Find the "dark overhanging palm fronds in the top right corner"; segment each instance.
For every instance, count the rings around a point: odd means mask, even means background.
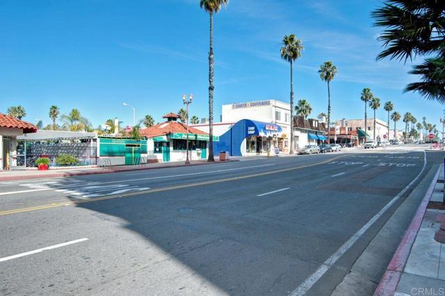
[[[420,75],[420,82],[410,83],[405,92],[417,91],[426,99],[445,103],[445,1],[387,0],[373,12],[375,26],[385,28],[380,34],[385,50],[378,59],[408,60],[427,56],[414,65],[410,74]]]

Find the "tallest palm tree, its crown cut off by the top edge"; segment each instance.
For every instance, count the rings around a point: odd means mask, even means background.
[[[227,6],[229,0],[200,0],[200,7],[209,13],[210,16],[210,49],[209,49],[209,158],[208,161],[215,161],[213,157],[213,15],[218,13],[223,6]]]

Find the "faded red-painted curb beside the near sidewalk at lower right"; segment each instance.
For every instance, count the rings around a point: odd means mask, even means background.
[[[437,179],[439,179],[441,170],[444,170],[444,165],[439,166],[435,177],[432,179],[430,187],[426,191],[426,194],[416,211],[416,215],[414,215],[412,219],[410,227],[408,227],[407,231],[405,232],[405,236],[403,236],[401,243],[398,245],[394,256],[389,262],[385,274],[383,274],[378,287],[374,291],[374,296],[394,296],[394,293],[396,293],[398,281],[401,279],[403,268],[405,268],[405,264],[410,256],[412,245],[414,244],[414,240],[416,240],[417,233],[419,232],[422,224],[423,216],[426,213],[426,207],[430,202],[432,192],[434,191]]]

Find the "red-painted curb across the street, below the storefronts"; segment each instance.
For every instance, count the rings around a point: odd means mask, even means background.
[[[89,174],[113,174],[117,172],[134,172],[134,171],[143,171],[143,170],[156,170],[156,169],[166,169],[170,167],[193,167],[195,165],[214,165],[219,163],[232,163],[238,160],[228,160],[228,161],[215,161],[214,163],[192,163],[190,165],[169,165],[165,167],[138,167],[134,169],[123,169],[123,170],[113,170],[104,169],[103,171],[94,171],[94,172],[63,172],[63,173],[54,173],[54,174],[45,174],[45,175],[34,175],[34,176],[4,176],[0,177],[0,181],[19,181],[19,180],[31,180],[31,179],[47,179],[47,178],[60,178],[67,176],[86,176]]]

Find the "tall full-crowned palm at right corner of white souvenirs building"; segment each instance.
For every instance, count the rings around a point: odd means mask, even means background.
[[[282,59],[287,60],[291,64],[291,147],[289,154],[293,154],[293,62],[300,58],[302,50],[302,42],[294,34],[284,36],[280,54]]]

